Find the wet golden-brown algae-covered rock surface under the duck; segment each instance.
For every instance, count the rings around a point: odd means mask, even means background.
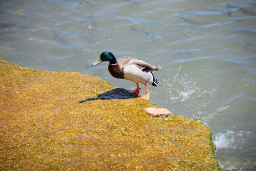
[[[219,170],[209,128],[98,77],[0,59],[0,170]]]

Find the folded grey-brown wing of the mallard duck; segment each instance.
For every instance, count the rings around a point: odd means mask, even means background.
[[[147,68],[149,70],[148,72],[159,71],[160,70],[159,68],[157,68],[155,66],[152,66],[151,64],[149,64],[147,62],[144,62],[141,59],[134,58],[134,57],[131,57],[131,56],[125,56],[125,57],[120,58],[118,60],[118,63],[120,63],[123,66],[125,66],[126,64],[136,65],[140,69]]]

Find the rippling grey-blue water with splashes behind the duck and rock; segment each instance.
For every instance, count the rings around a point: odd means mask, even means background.
[[[256,169],[256,2],[1,1],[1,58],[25,67],[79,71],[113,87],[101,52],[135,56],[162,71],[152,103],[204,120],[226,170]],[[244,9],[248,9],[247,11]],[[249,12],[248,12],[249,11]],[[141,85],[145,93],[145,86]]]

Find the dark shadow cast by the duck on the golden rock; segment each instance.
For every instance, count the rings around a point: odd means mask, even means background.
[[[116,88],[112,89],[111,91],[107,91],[104,93],[99,94],[97,97],[89,98],[85,100],[79,101],[79,103],[84,103],[86,101],[92,101],[92,100],[111,100],[111,99],[132,99],[139,97],[135,93],[131,93],[127,89],[124,88]]]

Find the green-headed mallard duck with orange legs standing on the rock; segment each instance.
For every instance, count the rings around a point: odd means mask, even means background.
[[[153,76],[152,71],[159,71],[160,69],[144,62],[143,60],[131,56],[124,56],[116,60],[115,56],[111,52],[106,51],[100,54],[100,57],[92,63],[92,66],[96,66],[104,61],[109,62],[108,71],[113,77],[131,80],[137,84],[137,88],[134,91],[130,91],[131,93],[139,95],[141,89],[139,87],[139,83],[147,86],[147,93],[142,95],[140,99],[148,100],[148,85],[157,86],[159,83]]]

